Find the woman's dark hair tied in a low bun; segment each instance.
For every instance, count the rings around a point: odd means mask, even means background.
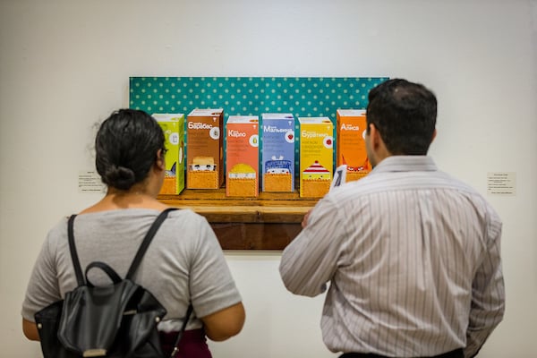
[[[129,190],[147,177],[157,160],[158,149],[165,150],[164,133],[157,121],[143,111],[119,109],[98,129],[98,174],[108,186]]]

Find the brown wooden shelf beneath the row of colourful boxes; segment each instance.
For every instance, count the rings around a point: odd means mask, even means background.
[[[300,198],[298,192],[229,198],[226,189],[196,189],[159,195],[158,200],[206,217],[224,250],[283,250],[300,233],[303,216],[319,199]]]

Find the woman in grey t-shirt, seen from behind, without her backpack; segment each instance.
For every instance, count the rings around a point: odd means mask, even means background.
[[[145,112],[120,109],[101,124],[95,147],[107,195],[76,217],[75,243],[82,269],[100,260],[124,277],[149,226],[167,208],[157,200],[166,171],[164,134]],[[166,308],[158,326],[165,351],[173,348],[174,332],[192,302],[177,357],[210,357],[206,336],[222,341],[243,328],[241,296],[217,238],[206,219],[191,210],[169,213],[134,279]],[[109,284],[104,276],[91,282]],[[64,217],[48,233],[31,274],[22,305],[24,335],[38,340],[34,314],[75,286]]]

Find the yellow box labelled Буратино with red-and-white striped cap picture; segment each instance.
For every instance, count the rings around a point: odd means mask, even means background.
[[[328,117],[299,117],[300,196],[320,198],[330,190],[334,170],[334,125]]]

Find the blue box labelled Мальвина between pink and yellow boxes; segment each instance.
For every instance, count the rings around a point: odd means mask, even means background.
[[[294,116],[261,115],[263,192],[294,192]]]

